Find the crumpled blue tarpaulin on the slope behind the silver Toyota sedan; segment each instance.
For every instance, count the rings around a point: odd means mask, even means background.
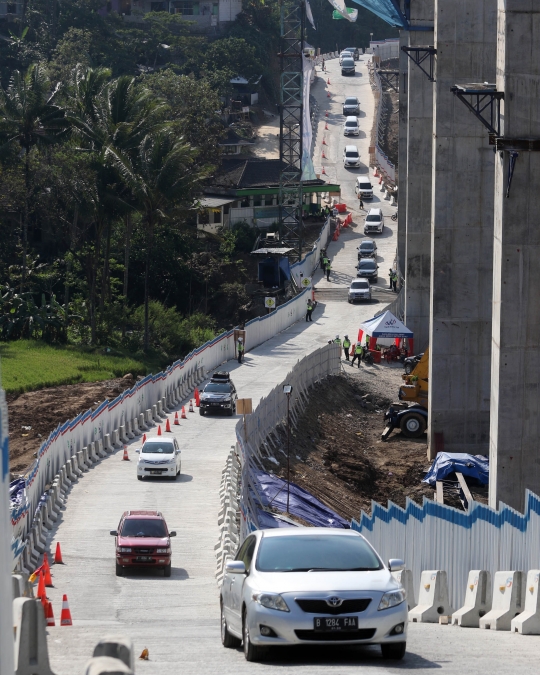
[[[251,472],[251,479],[257,493],[253,496],[255,499],[257,496],[260,498],[262,506],[271,506],[286,513],[287,481],[258,470]],[[295,483],[290,485],[289,513],[303,518],[316,527],[350,528],[351,526],[348,521]]]

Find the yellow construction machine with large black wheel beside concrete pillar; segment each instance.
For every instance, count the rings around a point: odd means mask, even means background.
[[[385,428],[381,439],[386,441],[399,427],[408,438],[420,438],[428,424],[429,349],[410,374],[402,375],[404,384],[399,388],[399,403],[392,403],[384,413]]]

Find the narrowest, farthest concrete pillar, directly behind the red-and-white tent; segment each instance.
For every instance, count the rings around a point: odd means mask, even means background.
[[[411,26],[433,26],[434,3],[411,2]],[[412,30],[408,37],[411,47],[433,44],[432,31]],[[402,271],[405,322],[414,332],[415,351],[420,352],[429,340],[433,82],[410,59],[408,81],[406,265]]]

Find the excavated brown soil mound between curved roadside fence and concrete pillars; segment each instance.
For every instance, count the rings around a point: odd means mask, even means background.
[[[297,428],[291,430],[291,481],[348,520],[358,520],[362,510],[370,512],[371,500],[405,506],[407,497],[418,503],[424,496],[433,499],[433,488],[421,482],[431,464],[426,436],[406,438],[397,430],[381,441],[383,412],[397,387],[387,386],[385,394],[380,377],[370,383],[367,372],[347,369],[316,384]],[[279,467],[267,461],[265,468],[286,478],[286,430],[280,427],[278,434]],[[455,501],[451,505],[461,508]]]

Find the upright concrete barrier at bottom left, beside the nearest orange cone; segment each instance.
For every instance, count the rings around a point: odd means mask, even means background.
[[[45,614],[40,600],[15,598],[15,675],[53,675],[49,665]]]

